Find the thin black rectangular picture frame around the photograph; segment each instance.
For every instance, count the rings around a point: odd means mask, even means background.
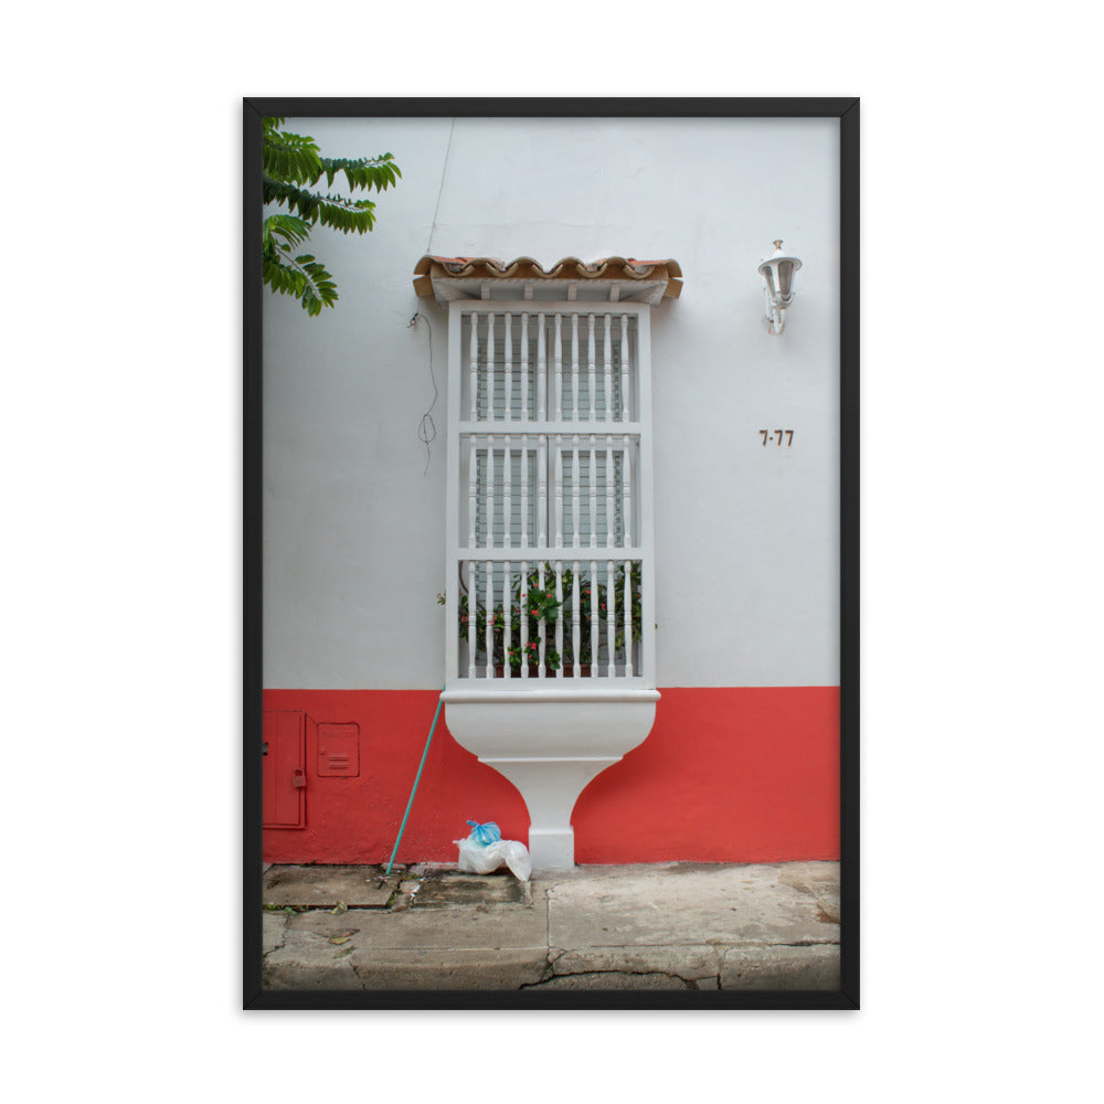
[[[262,119],[318,117],[839,119],[840,967],[835,991],[291,991],[262,987]],[[301,98],[243,100],[243,1008],[859,1008],[859,99]]]

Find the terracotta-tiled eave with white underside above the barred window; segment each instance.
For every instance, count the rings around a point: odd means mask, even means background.
[[[564,257],[545,269],[532,257],[426,255],[414,266],[414,290],[442,306],[453,299],[657,304],[679,297],[682,269],[671,259],[604,257],[587,264]]]

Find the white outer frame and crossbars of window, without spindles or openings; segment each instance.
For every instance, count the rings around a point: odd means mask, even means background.
[[[448,489],[446,496],[446,586],[445,586],[445,684],[447,689],[475,689],[473,682],[476,681],[480,691],[491,690],[495,692],[508,693],[511,697],[521,693],[523,697],[545,694],[554,698],[565,693],[585,693],[593,696],[607,692],[617,692],[629,688],[655,689],[656,687],[656,649],[655,649],[655,623],[656,623],[656,571],[655,571],[655,534],[652,524],[652,448],[651,448],[651,332],[650,311],[648,304],[641,302],[602,302],[602,301],[537,301],[537,300],[475,300],[456,299],[448,305]],[[469,368],[466,363],[466,350],[463,348],[463,322],[467,316],[512,315],[514,321],[519,321],[518,316],[528,315],[535,319],[538,315],[552,317],[560,314],[565,319],[573,315],[580,318],[580,331],[584,331],[587,316],[605,316],[618,319],[627,316],[636,321],[636,364],[635,364],[635,389],[636,389],[636,414],[635,422],[571,422],[555,421],[554,417],[539,418],[535,421],[479,421],[471,422],[461,417],[460,397],[464,389],[464,371]],[[552,365],[551,350],[548,351],[548,365]],[[551,376],[551,371],[549,372]],[[549,411],[545,411],[548,415]],[[463,562],[475,561],[502,561],[510,560],[519,562],[518,549],[502,548],[469,548],[460,540],[460,496],[466,492],[460,487],[460,448],[468,446],[473,435],[486,436],[493,434],[502,436],[509,433],[511,436],[527,433],[538,442],[548,442],[549,436],[556,434],[581,436],[588,435],[590,426],[596,427],[595,433],[604,437],[606,433],[634,436],[637,440],[637,486],[634,488],[633,510],[636,514],[634,528],[637,531],[638,544],[635,548],[617,549],[618,560],[630,560],[640,564],[640,602],[641,602],[641,640],[640,640],[640,672],[634,671],[633,677],[604,676],[601,678],[545,678],[543,676],[532,679],[485,679],[471,680],[460,678],[459,670],[459,637],[457,631],[458,618],[458,571]],[[509,429],[507,428],[509,426]],[[581,427],[586,426],[586,429]],[[554,475],[550,473],[548,478],[549,503],[555,496]],[[550,511],[551,512],[551,511]],[[574,560],[588,562],[592,556],[585,555],[590,548],[556,548],[551,543],[552,534],[548,533],[549,545],[541,546],[541,561],[562,560],[570,562]],[[601,555],[598,561],[607,559],[606,549],[597,550]],[[580,553],[583,552],[584,555]]]

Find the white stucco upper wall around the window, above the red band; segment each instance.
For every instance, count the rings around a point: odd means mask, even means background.
[[[446,333],[411,285],[426,252],[679,262],[681,298],[652,314],[658,684],[837,683],[836,120],[288,127],[332,156],[390,150],[403,179],[371,234],[315,231],[336,309],[265,297],[265,686],[443,682]],[[755,273],[776,237],[804,262],[781,338]],[[440,392],[428,468],[415,309]],[[778,428],[792,447],[764,447]]]

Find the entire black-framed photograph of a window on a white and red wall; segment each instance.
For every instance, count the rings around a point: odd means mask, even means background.
[[[858,100],[243,180],[244,1006],[858,1008]]]

